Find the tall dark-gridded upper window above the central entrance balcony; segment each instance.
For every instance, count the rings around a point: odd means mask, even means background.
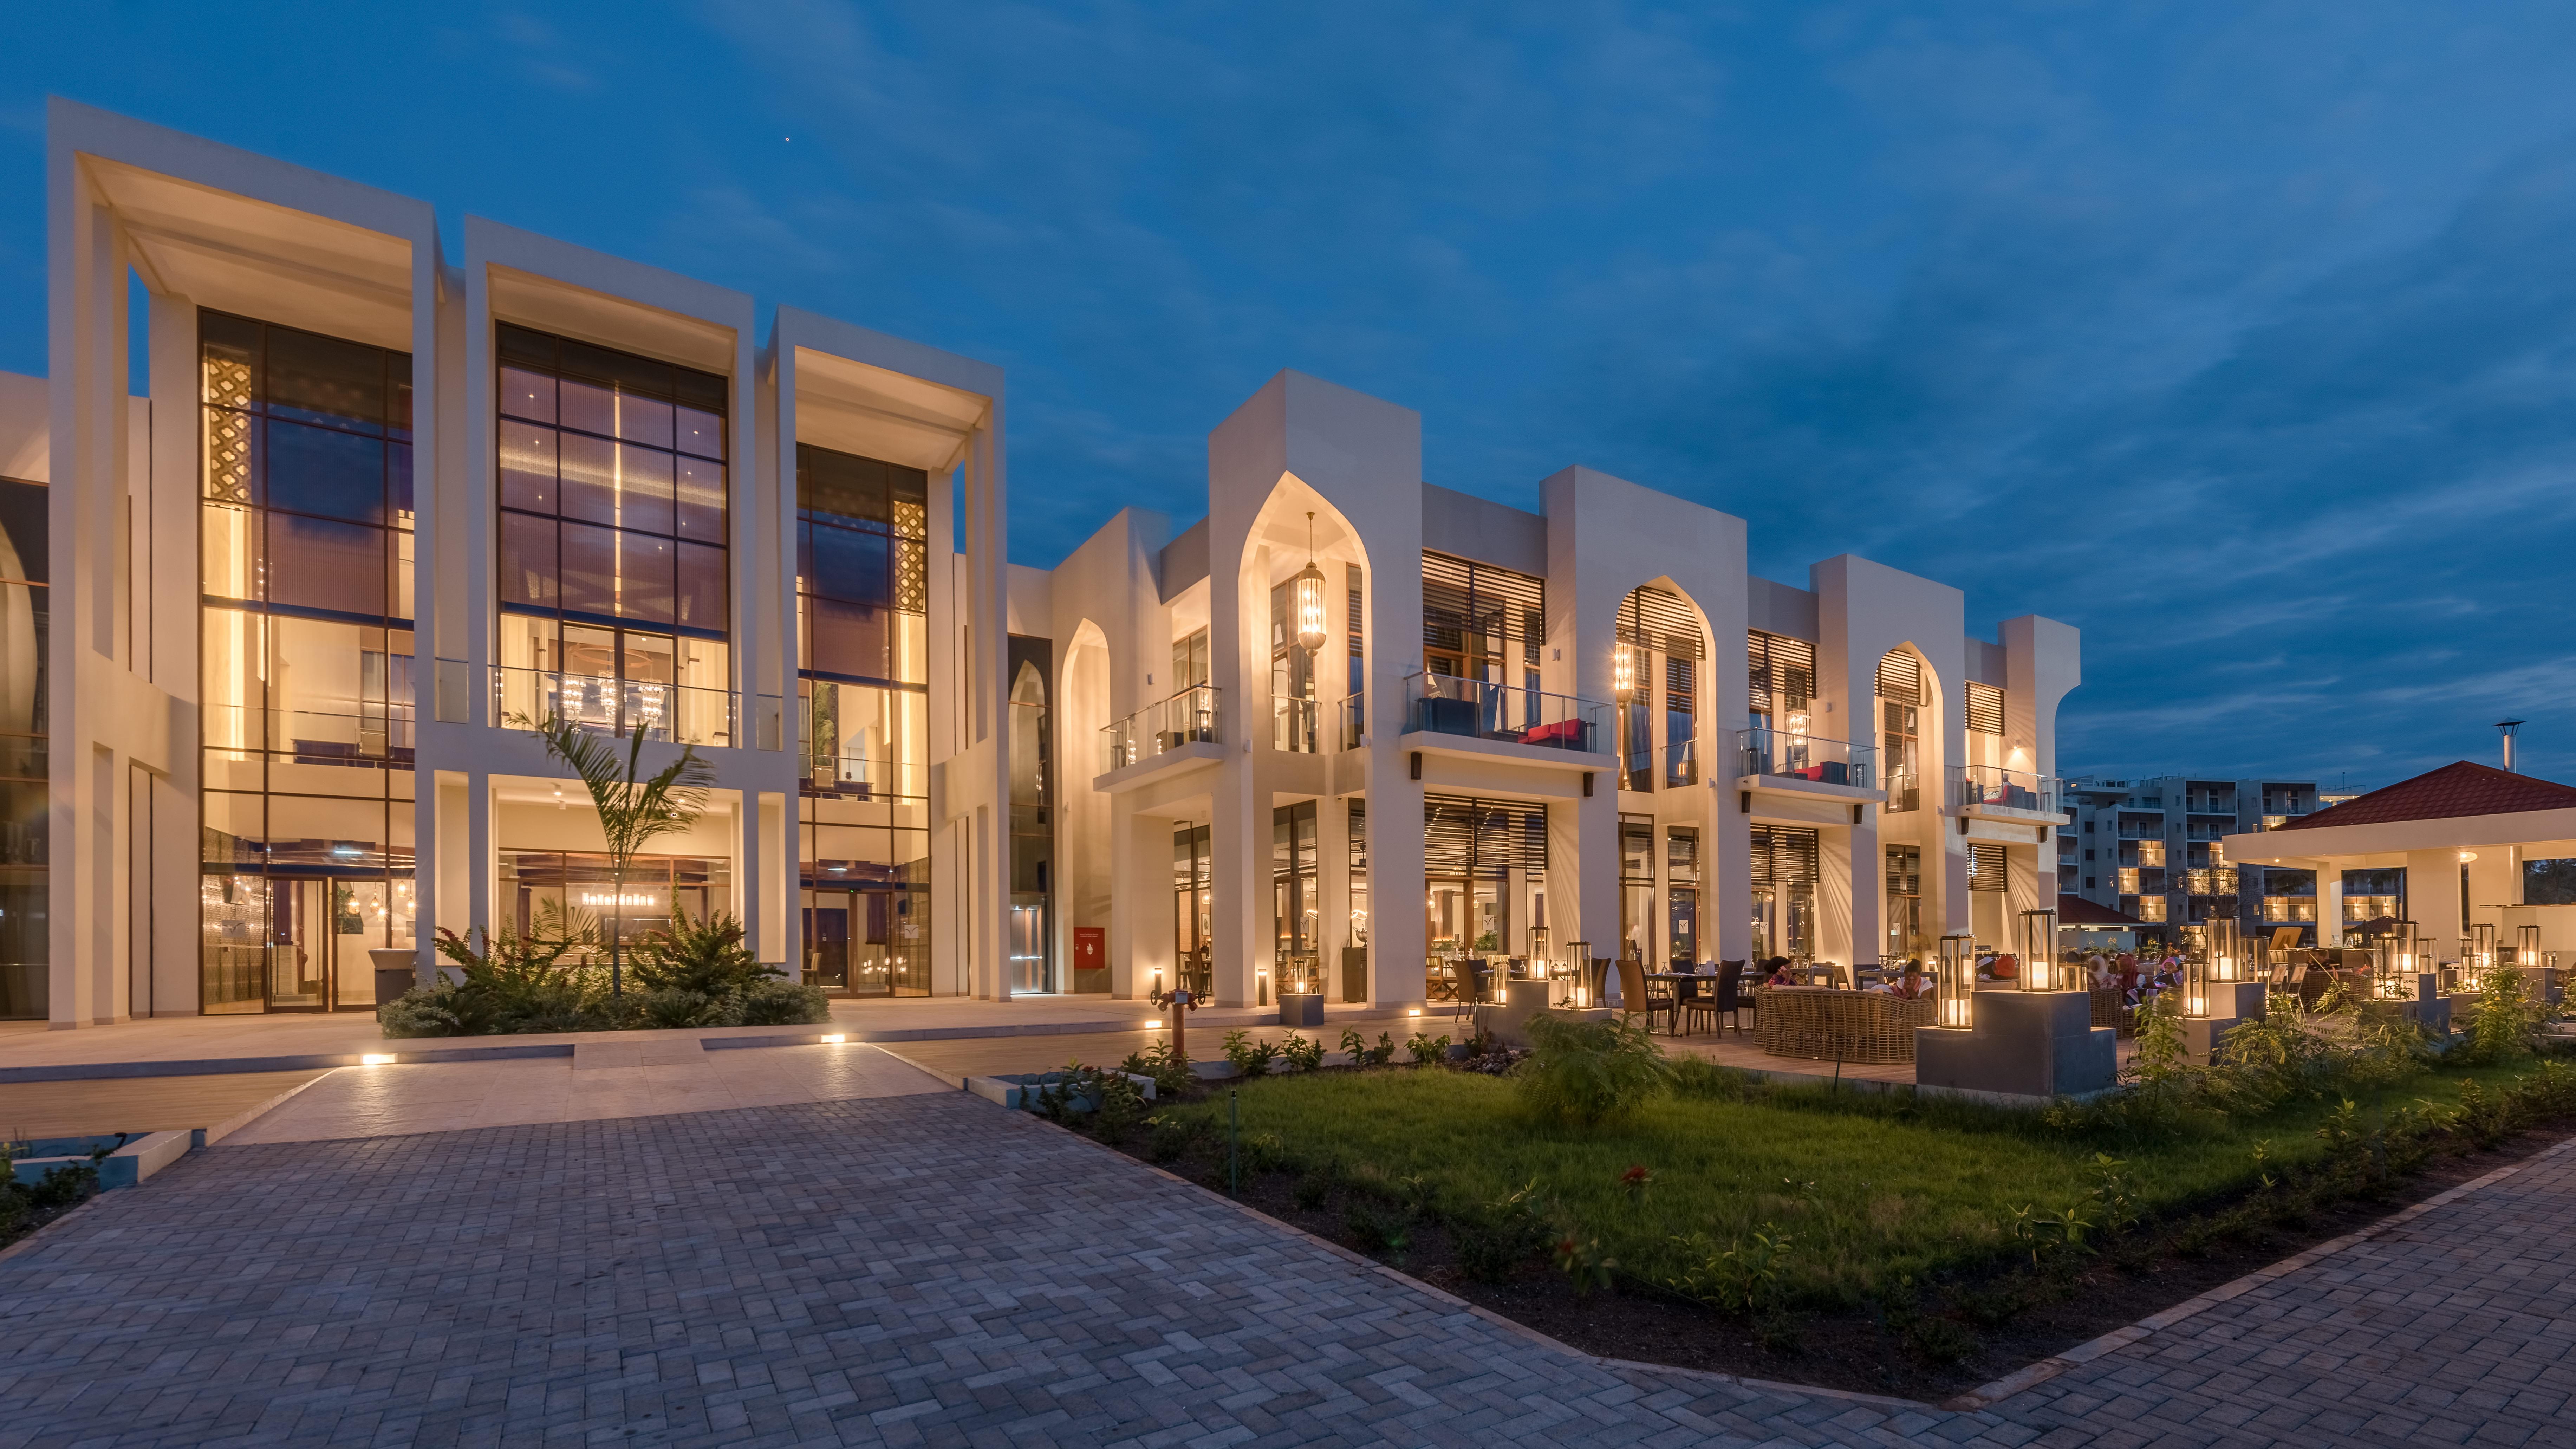
[[[505,719],[734,745],[726,382],[502,322]]]

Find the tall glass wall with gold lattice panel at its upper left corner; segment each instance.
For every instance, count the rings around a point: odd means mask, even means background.
[[[198,351],[198,1008],[371,1008],[412,944],[412,358],[222,312]]]

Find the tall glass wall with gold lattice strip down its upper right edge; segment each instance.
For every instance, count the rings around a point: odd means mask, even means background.
[[[930,995],[927,536],[927,472],[796,443],[804,975],[829,993]]]

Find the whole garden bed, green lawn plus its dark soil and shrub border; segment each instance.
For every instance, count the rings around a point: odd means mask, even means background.
[[[1494,1075],[1337,1067],[1188,1088],[1115,1147],[1224,1194],[1239,1088],[1236,1196],[1280,1222],[1587,1354],[1937,1403],[2548,1147],[2563,1106],[2494,1114],[2535,1070],[2437,1070],[2347,1093],[2352,1114],[2295,1101],[2123,1142],[1723,1070],[1577,1129],[1530,1119]],[[2406,1132],[2463,1080],[2473,1119]],[[2398,1137],[2372,1137],[2391,1119]],[[2076,1243],[2032,1227],[2069,1207],[2136,1222]],[[1765,1240],[1785,1240],[1767,1266]]]

